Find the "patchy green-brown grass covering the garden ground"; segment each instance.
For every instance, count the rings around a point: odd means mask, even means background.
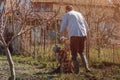
[[[109,52],[109,53],[108,53]],[[90,66],[91,73],[84,72],[83,66],[80,66],[80,73],[70,74],[49,74],[58,66],[55,55],[40,53],[34,59],[29,56],[12,56],[15,63],[17,80],[120,80],[120,64],[117,62],[119,50],[114,54],[116,62],[113,62],[112,52],[103,49],[101,57],[97,58],[97,51],[91,50]],[[106,56],[104,56],[106,55]],[[107,57],[107,58],[106,58]],[[7,80],[9,77],[9,65],[6,56],[0,56],[0,79]],[[81,59],[79,57],[81,63]]]

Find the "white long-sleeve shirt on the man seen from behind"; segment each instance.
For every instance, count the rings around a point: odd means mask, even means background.
[[[87,36],[88,24],[81,13],[70,11],[63,16],[60,32],[65,28],[68,29],[68,35],[71,36]]]

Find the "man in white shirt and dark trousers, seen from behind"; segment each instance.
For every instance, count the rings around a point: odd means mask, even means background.
[[[66,14],[62,19],[60,33],[62,33],[65,28],[68,29],[68,35],[70,37],[70,50],[74,66],[74,73],[79,73],[77,53],[79,53],[81,56],[86,72],[89,72],[90,69],[88,67],[88,61],[83,53],[88,25],[82,14],[74,11],[72,6],[66,6]]]

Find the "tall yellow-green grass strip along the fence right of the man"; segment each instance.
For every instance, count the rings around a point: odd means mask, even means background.
[[[101,53],[98,53],[96,49],[92,48],[90,50],[90,59],[97,62],[105,61],[120,63],[120,48],[116,48],[114,52],[112,48],[101,48]]]

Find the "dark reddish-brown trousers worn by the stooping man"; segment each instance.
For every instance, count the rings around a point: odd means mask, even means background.
[[[77,56],[79,53],[85,69],[88,70],[88,61],[86,59],[86,55],[84,54],[85,41],[86,41],[85,36],[84,37],[72,36],[70,38],[70,49],[73,65],[75,66],[75,68],[79,67],[79,64],[76,64],[78,63]]]

